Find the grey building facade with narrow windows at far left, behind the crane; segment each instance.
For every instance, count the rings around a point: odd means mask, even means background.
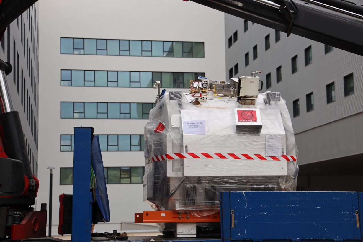
[[[38,46],[36,3],[7,26],[0,48],[0,59],[13,67],[7,75],[10,97],[20,115],[30,167],[35,176],[38,176]]]

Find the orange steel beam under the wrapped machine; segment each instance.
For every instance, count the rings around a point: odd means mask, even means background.
[[[220,222],[220,213],[209,216],[195,217],[191,212],[176,211],[144,211],[135,213],[135,223],[194,223],[194,222]]]

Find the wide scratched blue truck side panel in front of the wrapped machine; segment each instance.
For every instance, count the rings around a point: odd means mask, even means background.
[[[229,192],[229,201],[232,241],[361,239],[357,192]],[[231,221],[222,214],[223,223]]]

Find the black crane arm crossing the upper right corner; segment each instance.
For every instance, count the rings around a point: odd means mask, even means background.
[[[363,56],[363,7],[344,0],[191,1]]]

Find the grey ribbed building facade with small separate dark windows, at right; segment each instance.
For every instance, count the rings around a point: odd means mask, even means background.
[[[227,78],[261,70],[286,100],[298,189],[362,190],[363,57],[227,14],[225,40]]]

